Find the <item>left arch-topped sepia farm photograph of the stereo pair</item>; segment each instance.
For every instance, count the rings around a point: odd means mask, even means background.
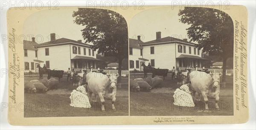
[[[128,116],[128,27],[95,8],[42,10],[23,23],[24,117]],[[22,83],[20,83],[22,84]]]

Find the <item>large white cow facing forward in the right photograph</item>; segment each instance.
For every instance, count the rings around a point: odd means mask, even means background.
[[[219,110],[220,74],[192,71],[189,74],[189,80],[191,81],[192,90],[204,97],[205,110],[208,110],[208,98],[215,99],[215,106]]]

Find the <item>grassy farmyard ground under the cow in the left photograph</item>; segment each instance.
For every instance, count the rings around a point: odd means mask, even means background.
[[[36,76],[24,78],[28,81],[39,79]],[[102,112],[99,97],[97,97],[97,102],[91,103],[91,108],[75,108],[70,106],[70,93],[76,88],[73,87],[71,81],[67,82],[66,76],[63,76],[58,90],[49,90],[46,94],[26,93],[24,95],[26,105],[24,117],[128,116],[128,79],[122,78],[121,83],[124,83],[122,88],[117,88],[116,90],[116,111],[111,109],[111,100],[105,100],[105,112]]]

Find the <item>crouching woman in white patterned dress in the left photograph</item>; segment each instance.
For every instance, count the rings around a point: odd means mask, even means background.
[[[71,92],[70,105],[76,108],[90,108],[90,101],[86,95],[86,87],[88,83],[84,83],[82,86],[79,86],[77,89]]]

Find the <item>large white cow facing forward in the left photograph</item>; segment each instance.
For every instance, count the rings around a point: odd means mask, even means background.
[[[118,74],[103,75],[99,72],[92,72],[86,75],[88,83],[89,96],[99,95],[102,103],[102,111],[105,111],[105,99],[112,101],[112,109],[116,111],[114,103],[116,102],[116,82]]]

